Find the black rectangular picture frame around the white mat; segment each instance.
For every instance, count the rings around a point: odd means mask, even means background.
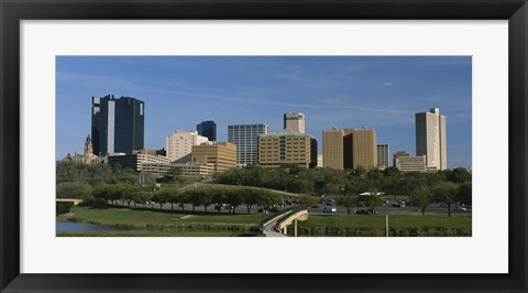
[[[528,4],[526,0],[0,0],[0,18],[2,42],[0,48],[1,292],[527,292]],[[21,20],[63,19],[508,20],[509,273],[21,274],[19,248],[21,39],[19,25]]]

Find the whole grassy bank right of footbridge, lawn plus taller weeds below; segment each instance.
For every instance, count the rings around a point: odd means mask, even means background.
[[[389,236],[471,236],[471,216],[388,217]],[[299,221],[298,232],[311,236],[385,236],[384,216],[310,216]]]

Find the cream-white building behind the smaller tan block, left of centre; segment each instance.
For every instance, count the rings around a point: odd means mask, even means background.
[[[193,145],[208,141],[206,137],[198,135],[197,131],[175,130],[166,139],[165,150],[170,162],[182,159],[193,151]]]

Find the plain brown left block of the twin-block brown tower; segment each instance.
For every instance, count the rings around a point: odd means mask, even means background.
[[[343,169],[343,137],[344,132],[334,127],[322,131],[322,166]]]

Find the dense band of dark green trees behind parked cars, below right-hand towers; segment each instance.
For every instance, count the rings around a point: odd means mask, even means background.
[[[217,183],[267,187],[310,195],[358,195],[364,192],[383,192],[387,195],[410,196],[419,187],[432,189],[440,184],[452,183],[465,194],[461,202],[471,204],[471,172],[463,167],[433,173],[400,172],[396,167],[366,172],[332,169],[300,169],[295,165],[264,169],[248,166],[217,174]],[[448,184],[449,185],[449,184]],[[469,192],[469,193],[468,193]]]

